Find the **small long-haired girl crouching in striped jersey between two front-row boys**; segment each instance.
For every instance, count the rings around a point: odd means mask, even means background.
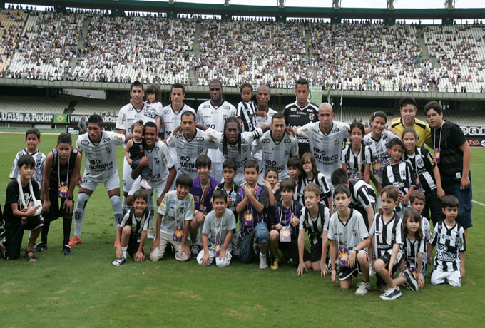
[[[407,210],[404,213],[402,226],[402,232],[404,232],[404,261],[401,265],[401,275],[406,278],[404,286],[413,292],[417,292],[424,287],[422,267],[423,254],[426,249],[426,240],[424,240],[421,227],[421,213],[412,208]]]

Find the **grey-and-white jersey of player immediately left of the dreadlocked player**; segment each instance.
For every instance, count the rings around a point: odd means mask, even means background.
[[[167,139],[167,145],[170,148],[175,148],[177,157],[175,162],[178,162],[178,175],[187,173],[190,178],[197,178],[197,168],[195,168],[195,160],[200,154],[208,154],[208,148],[217,149],[215,144],[207,133],[203,130],[195,128],[195,135],[192,139],[185,138],[183,133],[170,135]]]

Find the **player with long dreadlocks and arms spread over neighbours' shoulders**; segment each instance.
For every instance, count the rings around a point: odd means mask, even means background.
[[[252,132],[241,132],[241,125],[238,118],[230,116],[226,118],[223,132],[216,131],[198,124],[197,128],[205,130],[206,133],[214,140],[219,149],[223,152],[225,158],[233,158],[238,164],[238,173],[234,182],[238,185],[245,183],[244,165],[247,160],[252,158],[251,144],[252,141],[259,138],[265,131],[270,130],[270,125],[262,125]]]

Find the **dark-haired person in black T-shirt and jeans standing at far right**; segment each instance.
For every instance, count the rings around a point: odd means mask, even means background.
[[[437,101],[424,106],[424,113],[431,127],[434,157],[441,175],[441,185],[446,195],[458,198],[460,207],[456,222],[465,230],[471,222],[471,149],[461,128],[443,120],[443,110]]]

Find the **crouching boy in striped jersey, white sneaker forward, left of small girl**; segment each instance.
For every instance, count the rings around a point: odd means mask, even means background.
[[[394,213],[394,207],[399,203],[399,190],[387,185],[382,189],[382,212],[375,215],[370,228],[371,242],[374,245],[372,255],[372,267],[377,276],[379,292],[384,292],[381,299],[392,301],[402,296],[399,285],[406,278],[393,279],[394,273],[401,265],[404,258],[402,252],[402,220]],[[386,285],[389,289],[386,290]]]

